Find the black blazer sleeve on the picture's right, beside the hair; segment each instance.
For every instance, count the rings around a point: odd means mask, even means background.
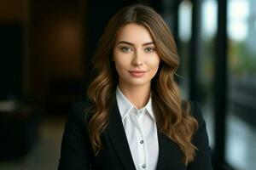
[[[199,127],[195,132],[192,143],[197,147],[195,160],[188,165],[189,170],[212,170],[211,150],[208,142],[206,122],[201,114],[201,109],[197,102],[190,102],[192,116],[197,120]]]

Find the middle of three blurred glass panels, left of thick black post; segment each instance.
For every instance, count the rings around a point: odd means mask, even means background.
[[[201,4],[201,48],[199,49],[197,64],[197,88],[212,148],[214,147],[213,77],[216,31],[217,2],[215,0],[203,0]]]

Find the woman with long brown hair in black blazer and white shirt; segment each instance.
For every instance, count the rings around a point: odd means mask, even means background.
[[[93,59],[86,101],[73,106],[59,169],[212,169],[195,102],[181,101],[171,31],[143,5],[113,15]]]

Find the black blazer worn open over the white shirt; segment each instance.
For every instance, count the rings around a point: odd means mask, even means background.
[[[210,148],[206,124],[197,103],[191,102],[192,115],[199,122],[199,128],[194,135],[193,144],[198,148],[195,161],[189,165],[182,162],[183,153],[176,143],[158,132],[159,158],[157,170],[212,170]],[[84,109],[86,102],[73,105],[65,125],[61,144],[61,159],[59,170],[136,170],[132,161],[129,144],[125,136],[119,108],[113,102],[110,111],[108,127],[101,135],[103,150],[93,155],[85,123]]]

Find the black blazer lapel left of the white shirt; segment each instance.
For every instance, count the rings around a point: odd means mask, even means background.
[[[109,111],[109,122],[107,127],[109,139],[113,144],[114,150],[117,152],[120,161],[123,163],[126,170],[136,170],[132,160],[131,151],[125,135],[122,119],[119,114],[119,108],[114,99],[113,107]]]

